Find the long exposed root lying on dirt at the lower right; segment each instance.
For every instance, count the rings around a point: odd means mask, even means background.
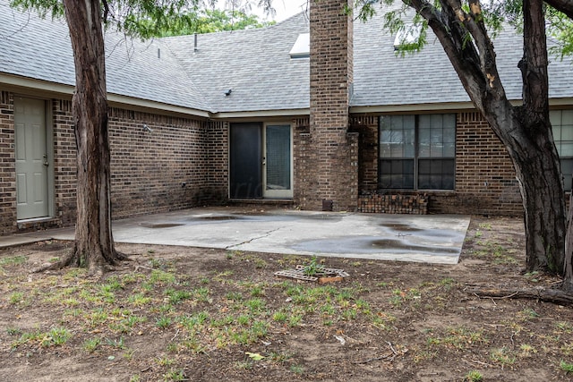
[[[466,293],[472,293],[478,297],[486,297],[494,300],[529,299],[552,302],[560,305],[573,305],[573,293],[568,293],[560,289],[498,289],[483,288],[479,285],[468,285]]]

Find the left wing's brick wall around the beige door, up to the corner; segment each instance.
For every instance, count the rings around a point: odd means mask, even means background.
[[[54,140],[55,218],[16,225],[13,95],[0,92],[0,234],[69,226],[75,221],[76,149],[72,105],[50,102]],[[145,132],[143,125],[152,132]],[[227,123],[109,110],[114,218],[227,200]]]

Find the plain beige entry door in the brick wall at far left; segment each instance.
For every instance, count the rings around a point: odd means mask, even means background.
[[[46,104],[14,98],[18,220],[48,216]]]

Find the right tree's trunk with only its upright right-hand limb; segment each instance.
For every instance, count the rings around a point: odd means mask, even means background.
[[[565,192],[549,122],[547,38],[542,0],[524,0],[523,106],[520,137],[510,148],[524,199],[527,267],[563,275]],[[526,146],[521,146],[527,141]],[[520,176],[521,174],[521,176]]]

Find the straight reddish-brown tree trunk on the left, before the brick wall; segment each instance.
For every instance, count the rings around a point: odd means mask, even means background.
[[[72,39],[76,89],[73,119],[77,145],[75,247],[66,265],[103,272],[123,256],[111,231],[110,151],[104,39],[98,0],[64,0]]]

